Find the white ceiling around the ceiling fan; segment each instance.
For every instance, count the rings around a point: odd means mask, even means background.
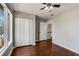
[[[50,16],[50,15],[52,13],[56,15],[61,12],[65,12],[66,10],[79,8],[79,3],[61,3],[60,5],[61,5],[60,8],[53,8],[52,12],[47,12],[46,10],[40,10],[40,8],[45,6],[41,3],[10,3],[9,4],[11,9],[14,11],[38,15],[45,19],[51,18],[52,16]]]

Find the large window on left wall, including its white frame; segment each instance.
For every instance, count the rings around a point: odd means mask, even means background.
[[[0,4],[0,52],[12,42],[12,14],[5,4]]]

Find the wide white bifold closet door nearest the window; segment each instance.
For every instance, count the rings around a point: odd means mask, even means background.
[[[25,46],[30,44],[29,19],[15,19],[15,46]]]

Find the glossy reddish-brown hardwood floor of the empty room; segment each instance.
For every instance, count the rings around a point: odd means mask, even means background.
[[[36,42],[35,46],[15,48],[11,56],[79,56],[79,54],[52,44],[52,41],[49,39]]]

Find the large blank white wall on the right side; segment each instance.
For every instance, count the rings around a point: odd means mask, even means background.
[[[79,8],[54,15],[53,43],[79,53]]]

